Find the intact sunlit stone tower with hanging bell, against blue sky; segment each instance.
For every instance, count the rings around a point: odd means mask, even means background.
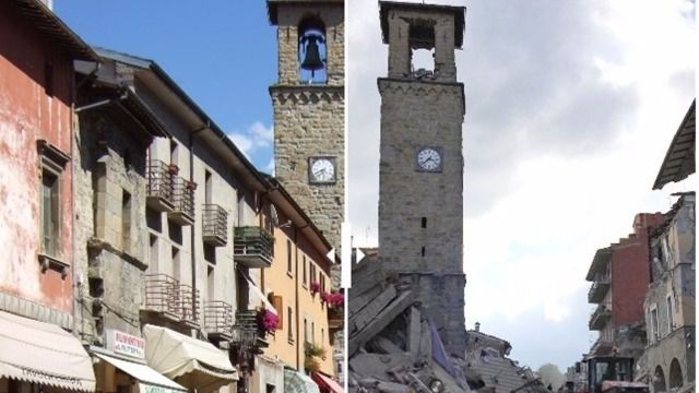
[[[340,254],[344,213],[344,2],[268,0],[277,26],[274,175]],[[340,271],[333,271],[340,286]]]

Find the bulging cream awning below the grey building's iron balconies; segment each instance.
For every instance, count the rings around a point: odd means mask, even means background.
[[[149,366],[171,379],[189,374],[178,380],[187,388],[208,391],[238,380],[227,354],[211,343],[151,324],[143,336]]]

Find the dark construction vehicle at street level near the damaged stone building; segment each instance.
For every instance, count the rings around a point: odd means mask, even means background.
[[[633,358],[593,356],[588,362],[588,393],[648,393],[648,385],[633,382]]]

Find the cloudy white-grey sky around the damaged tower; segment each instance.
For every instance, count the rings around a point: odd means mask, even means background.
[[[433,1],[434,3],[434,1]],[[596,249],[664,212],[651,191],[695,96],[689,1],[469,0],[463,50],[466,324],[512,343],[533,368],[579,360],[596,333],[584,275]],[[348,209],[355,245],[376,246],[378,4],[347,13]]]

